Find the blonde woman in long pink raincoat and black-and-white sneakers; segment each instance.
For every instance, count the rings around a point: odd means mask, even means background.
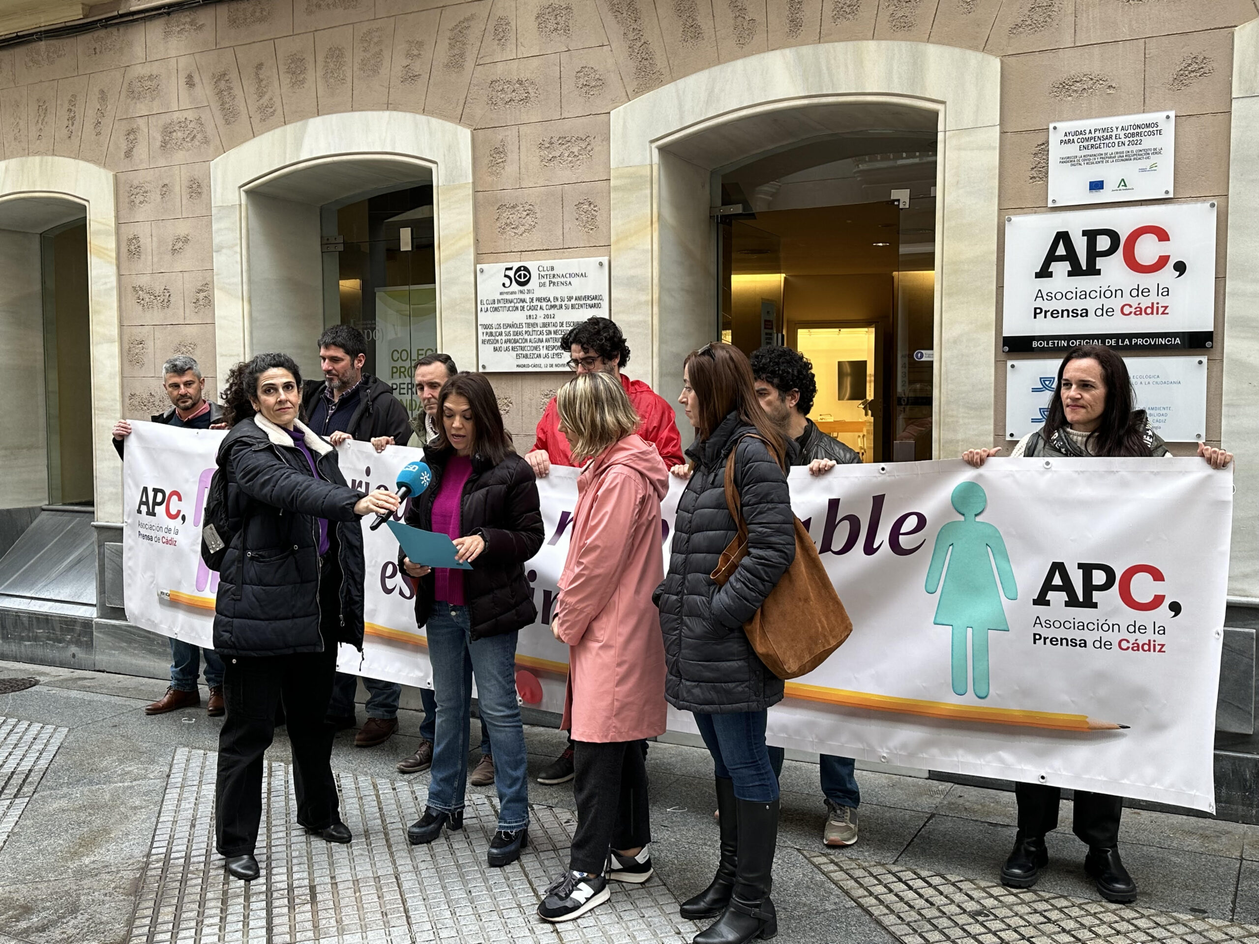
[[[652,874],[642,740],[665,731],[665,647],[651,595],[663,570],[669,471],[635,432],[641,419],[614,375],[579,374],[555,405],[583,466],[551,622],[570,647],[560,728],[573,740],[578,826],[569,870],[538,914],[560,923],[607,901],[608,879]]]

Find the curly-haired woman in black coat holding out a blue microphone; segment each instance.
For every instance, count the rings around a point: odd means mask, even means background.
[[[227,717],[219,733],[215,841],[237,879],[258,877],[263,754],[283,700],[297,822],[329,842],[353,836],[337,812],[332,734],[324,724],[337,643],[363,648],[364,515],[398,496],[345,483],[332,446],[298,422],[302,378],[286,354],[259,354],[228,380],[219,446],[233,535],[220,568],[214,649]]]

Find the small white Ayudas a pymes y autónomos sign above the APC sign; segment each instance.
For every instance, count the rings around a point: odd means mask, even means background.
[[[1049,205],[1165,200],[1173,195],[1176,112],[1056,121],[1049,126]]]

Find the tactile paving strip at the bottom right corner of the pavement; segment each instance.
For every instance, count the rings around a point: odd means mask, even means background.
[[[904,866],[806,852],[808,860],[904,944],[1259,943],[1259,926],[1221,919],[1016,891]]]

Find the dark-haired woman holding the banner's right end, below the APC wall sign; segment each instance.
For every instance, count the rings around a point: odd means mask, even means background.
[[[1132,380],[1118,354],[1100,345],[1073,349],[1058,368],[1058,386],[1050,395],[1045,425],[1015,446],[1011,458],[1093,456],[1171,456],[1149,425],[1144,410],[1133,409]],[[962,454],[980,468],[1001,449],[967,449]],[[1197,454],[1224,468],[1233,454],[1199,443]],[[1049,865],[1045,833],[1058,828],[1060,790],[1041,783],[1016,783],[1019,833],[1001,868],[1001,881],[1030,889]],[[1123,798],[1075,790],[1074,832],[1089,847],[1084,871],[1102,897],[1127,902],[1137,897],[1137,884],[1119,858],[1119,817]]]

